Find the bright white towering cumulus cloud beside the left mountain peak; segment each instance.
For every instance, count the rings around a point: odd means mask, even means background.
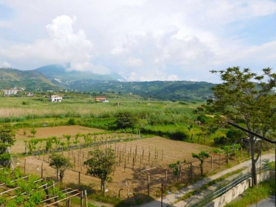
[[[33,43],[12,45],[5,51],[5,55],[21,61],[38,59],[40,64],[70,62],[70,68],[67,68],[69,70],[109,73],[108,68],[92,64],[95,54],[93,44],[82,29],[74,32],[75,21],[75,16],[57,16],[45,26],[48,38],[38,39]]]

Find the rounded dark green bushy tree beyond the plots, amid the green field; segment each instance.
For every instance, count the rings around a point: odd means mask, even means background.
[[[115,124],[117,125],[118,129],[126,129],[131,128],[133,129],[135,124],[138,123],[137,117],[134,116],[131,112],[119,112],[116,115]]]

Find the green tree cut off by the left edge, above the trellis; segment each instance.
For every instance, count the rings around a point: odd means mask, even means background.
[[[10,164],[10,147],[14,144],[14,133],[9,128],[0,127],[0,165]]]

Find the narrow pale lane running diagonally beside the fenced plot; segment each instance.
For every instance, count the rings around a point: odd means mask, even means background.
[[[261,156],[261,159],[264,160],[264,159],[269,159],[270,161],[275,161],[275,154],[267,154],[267,155],[262,155]],[[258,167],[260,167],[260,159],[259,159],[259,162],[256,164]],[[248,160],[248,161],[245,161],[243,163],[240,163],[239,165],[237,166],[234,166],[233,168],[231,169],[227,169],[227,170],[224,170],[220,173],[217,173],[215,175],[212,175],[210,176],[209,178],[207,179],[203,179],[191,186],[188,186],[188,187],[185,187],[183,189],[181,189],[180,191],[178,191],[177,193],[174,193],[174,194],[169,194],[167,195],[166,197],[163,197],[163,201],[162,201],[162,206],[163,207],[185,207],[185,205],[188,204],[188,202],[190,201],[189,200],[185,200],[185,201],[181,201],[181,202],[178,202],[176,204],[174,204],[179,198],[183,197],[185,194],[187,194],[188,192],[191,192],[193,190],[196,190],[196,189],[199,189],[201,186],[203,186],[206,182],[209,182],[211,180],[215,180],[215,179],[218,179],[220,177],[222,177],[223,175],[227,174],[227,173],[230,173],[230,172],[233,172],[235,170],[238,170],[238,169],[242,169],[242,168],[246,168],[245,171],[250,171],[251,169],[251,160]],[[245,172],[244,171],[244,172]],[[199,195],[200,196],[200,195]],[[255,205],[256,206],[256,205]],[[155,201],[152,201],[152,202],[149,202],[147,204],[143,204],[141,205],[140,207],[161,207],[161,198],[158,199],[158,200],[155,200]],[[274,206],[275,207],[275,206]]]

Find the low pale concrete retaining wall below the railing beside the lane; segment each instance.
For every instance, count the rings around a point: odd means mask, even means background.
[[[269,180],[270,179],[270,171],[266,171],[257,175],[258,183]],[[209,203],[206,207],[224,207],[226,204],[230,203],[234,199],[236,199],[239,195],[244,193],[246,189],[251,187],[251,178],[243,181],[239,185],[235,186],[227,193],[222,195],[221,197],[215,199],[211,203]]]

